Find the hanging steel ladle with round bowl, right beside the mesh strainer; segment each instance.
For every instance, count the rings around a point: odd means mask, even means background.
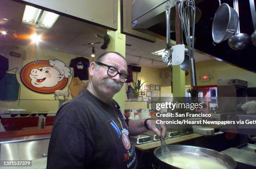
[[[236,10],[238,16],[238,0],[234,0],[234,9]],[[240,23],[238,23],[238,27],[236,30],[236,34],[228,38],[228,45],[230,48],[234,50],[242,50],[246,48],[250,43],[250,35],[246,33],[240,33]]]

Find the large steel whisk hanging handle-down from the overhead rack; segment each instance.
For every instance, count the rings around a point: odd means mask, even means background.
[[[178,5],[179,18],[182,23],[187,40],[188,55],[190,61],[191,86],[197,86],[194,59],[194,37],[195,37],[195,2],[194,0],[180,0]]]

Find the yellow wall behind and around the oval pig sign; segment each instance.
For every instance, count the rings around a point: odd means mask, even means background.
[[[4,43],[0,43],[2,45]],[[63,61],[66,66],[69,66],[70,61],[73,58],[77,57],[84,57],[82,55],[72,55],[68,53],[61,53],[51,50],[44,50],[39,48],[32,48],[32,47],[25,47],[20,46],[21,48],[26,50],[26,60],[23,61],[23,66],[25,66],[27,63],[30,63],[32,61],[35,61],[36,58],[38,60],[49,60],[49,59],[59,59],[60,61]],[[91,57],[84,57],[89,59],[90,62],[93,61]],[[71,68],[71,72],[73,72],[73,68]],[[26,86],[23,85],[23,83],[20,80],[20,74],[16,73],[16,77],[18,80],[18,83],[20,84],[20,104],[18,105],[19,101],[0,101],[0,107],[5,108],[24,108],[27,111],[56,111],[59,108],[59,101],[54,100],[54,94],[45,94],[45,93],[37,93],[30,89],[28,89]],[[65,88],[62,90],[68,91],[69,83],[72,80],[72,76],[69,77],[68,83]],[[86,83],[87,81],[83,81]],[[60,99],[63,99],[63,96],[59,97]],[[72,96],[70,95],[69,100],[72,99]]]

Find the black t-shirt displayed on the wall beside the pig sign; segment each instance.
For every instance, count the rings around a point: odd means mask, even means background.
[[[88,80],[88,67],[90,62],[87,58],[79,57],[71,60],[69,67],[74,68],[74,77],[79,77],[80,80]]]

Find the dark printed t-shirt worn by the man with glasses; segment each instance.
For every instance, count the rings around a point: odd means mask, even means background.
[[[137,169],[127,128],[113,103],[85,90],[56,114],[47,169]]]

